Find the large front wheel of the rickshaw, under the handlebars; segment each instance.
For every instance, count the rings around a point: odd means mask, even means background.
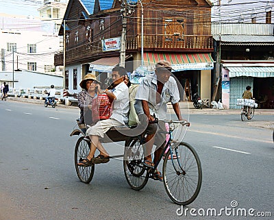
[[[173,154],[176,159],[169,159],[171,152],[164,158],[164,188],[175,204],[186,206],[194,201],[201,188],[201,162],[195,149],[188,143],[178,143]]]

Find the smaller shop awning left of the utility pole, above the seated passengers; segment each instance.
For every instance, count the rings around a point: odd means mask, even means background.
[[[125,60],[127,60],[127,58],[129,58],[129,56],[126,56]],[[99,60],[90,62],[89,71],[111,72],[112,69],[119,64],[119,62],[119,56],[114,56],[111,58],[101,58]]]

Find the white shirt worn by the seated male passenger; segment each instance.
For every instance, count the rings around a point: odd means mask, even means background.
[[[113,94],[116,96],[116,99],[114,99],[112,103],[112,115],[110,118],[116,119],[125,125],[128,121],[129,89],[127,85],[122,82],[114,88]]]

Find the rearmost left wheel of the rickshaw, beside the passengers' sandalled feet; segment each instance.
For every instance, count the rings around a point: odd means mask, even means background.
[[[75,145],[75,152],[74,152],[74,163],[75,163],[75,169],[77,176],[81,182],[84,182],[86,184],[90,183],[90,181],[93,178],[93,174],[95,171],[95,165],[92,164],[90,167],[82,167],[78,166],[77,163],[80,160],[83,160],[88,156],[88,153],[90,151],[90,144],[84,140],[84,136],[81,136]]]

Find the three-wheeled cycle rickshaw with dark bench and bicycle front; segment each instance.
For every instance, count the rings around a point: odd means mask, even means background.
[[[138,126],[112,127],[105,135],[102,143],[125,141],[123,155],[110,156],[110,158],[123,158],[123,168],[127,183],[136,191],[144,188],[149,178],[162,162],[163,183],[166,193],[175,204],[188,205],[199,194],[202,182],[201,162],[195,149],[188,143],[173,140],[173,130],[178,125],[188,125],[187,121],[165,121],[169,124],[169,140],[154,167],[144,164],[144,151],[146,131]],[[134,131],[134,132],[132,132]],[[132,136],[131,134],[136,134]],[[79,135],[75,145],[75,169],[80,181],[88,184],[93,178],[95,164],[89,167],[79,166],[77,162],[84,160],[90,150],[90,140],[84,136],[85,130],[79,129],[71,133]]]

